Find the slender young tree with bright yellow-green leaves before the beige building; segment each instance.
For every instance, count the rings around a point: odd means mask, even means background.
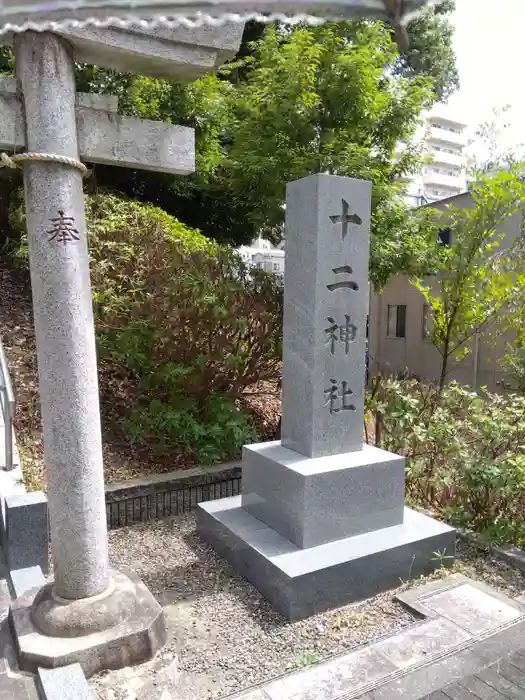
[[[525,283],[521,242],[500,250],[503,234],[497,230],[525,199],[519,174],[512,169],[481,179],[472,192],[473,207],[449,206],[437,218],[439,228],[450,229],[450,245],[442,246],[432,283],[413,282],[433,315],[430,336],[442,358],[440,391],[452,358],[461,360],[470,352],[468,341],[492,326]]]

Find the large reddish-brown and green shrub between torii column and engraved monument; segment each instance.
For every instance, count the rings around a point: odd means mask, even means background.
[[[158,453],[235,455],[256,438],[239,397],[279,374],[275,278],[153,206],[99,194],[86,217],[106,416]]]

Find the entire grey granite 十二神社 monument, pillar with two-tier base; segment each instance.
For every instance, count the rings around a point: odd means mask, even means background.
[[[242,495],[198,532],[296,620],[453,561],[454,530],[404,506],[404,459],[363,444],[371,183],[288,185],[282,439],[243,451]]]

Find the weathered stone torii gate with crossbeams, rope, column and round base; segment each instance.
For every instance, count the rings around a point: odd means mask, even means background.
[[[81,162],[194,170],[193,130],[121,117],[116,99],[75,94],[74,60],[195,78],[232,54],[242,25],[178,32],[86,28],[12,37],[16,80],[0,83],[0,147],[22,158],[54,583],[11,608],[23,670],[78,661],[89,675],[150,658],[162,609],[111,571]],[[25,124],[25,131],[24,131]],[[20,149],[25,156],[18,156]],[[13,162],[14,161],[14,162]],[[22,163],[20,163],[22,165]]]

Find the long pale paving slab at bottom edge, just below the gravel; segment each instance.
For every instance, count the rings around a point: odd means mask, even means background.
[[[265,686],[270,700],[329,700],[384,678],[395,666],[370,647],[331,659]]]

